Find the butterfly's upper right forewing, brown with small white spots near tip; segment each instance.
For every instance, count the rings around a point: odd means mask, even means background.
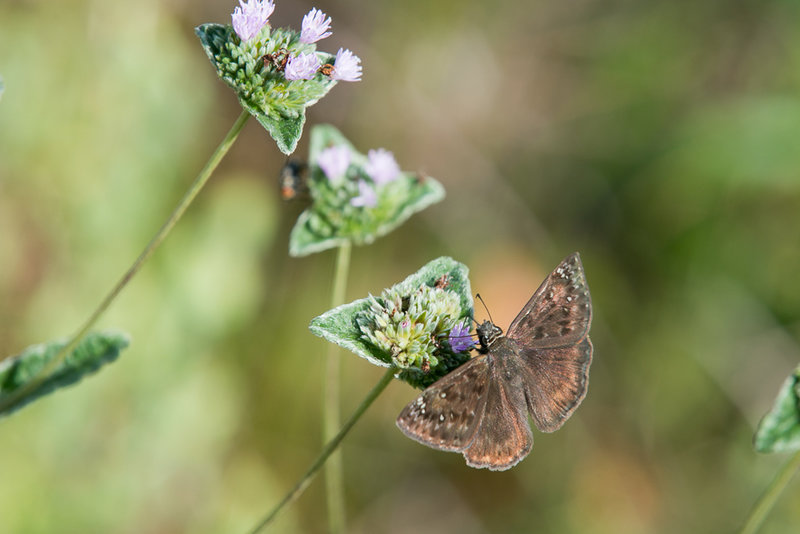
[[[572,345],[586,336],[591,320],[592,300],[576,252],[542,282],[506,335],[524,348]]]

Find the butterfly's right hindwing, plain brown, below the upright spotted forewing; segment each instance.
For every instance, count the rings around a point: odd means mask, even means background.
[[[592,342],[550,349],[521,349],[521,375],[525,399],[536,428],[554,432],[561,428],[586,396]]]

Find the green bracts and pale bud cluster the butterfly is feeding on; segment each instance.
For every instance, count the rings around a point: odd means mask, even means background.
[[[311,331],[375,365],[400,369],[398,378],[424,388],[469,359],[454,352],[450,330],[472,320],[467,267],[441,257],[379,297],[334,308],[311,321]]]

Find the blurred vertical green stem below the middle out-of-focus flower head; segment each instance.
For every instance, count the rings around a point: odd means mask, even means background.
[[[340,245],[336,253],[336,267],[333,276],[331,308],[344,303],[347,288],[347,275],[350,272],[349,242]],[[339,348],[331,343],[325,363],[324,393],[322,396],[322,434],[323,443],[333,439],[341,425],[341,405],[339,395],[341,357]],[[344,475],[342,453],[333,453],[325,466],[325,493],[328,505],[328,532],[340,534],[344,532]]]

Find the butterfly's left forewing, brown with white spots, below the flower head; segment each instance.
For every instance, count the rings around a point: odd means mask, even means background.
[[[483,416],[489,386],[486,356],[469,360],[443,376],[397,417],[411,439],[442,451],[462,451]]]

